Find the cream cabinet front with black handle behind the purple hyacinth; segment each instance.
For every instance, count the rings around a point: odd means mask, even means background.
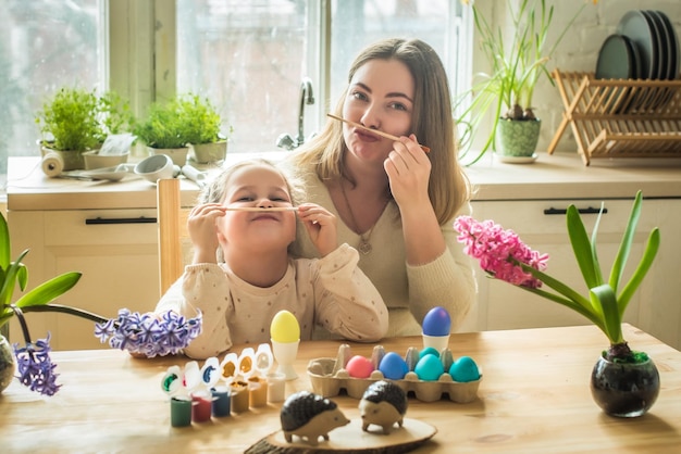
[[[156,210],[10,211],[12,253],[26,248],[28,287],[82,272],[59,304],[114,318],[119,308],[152,311],[159,299]],[[26,314],[32,338],[51,332],[54,350],[102,349],[95,324],[72,315]],[[15,319],[13,342],[23,342]]]

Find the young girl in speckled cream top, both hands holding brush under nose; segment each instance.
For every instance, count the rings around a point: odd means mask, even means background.
[[[236,343],[268,342],[281,310],[296,316],[301,340],[315,325],[355,341],[385,336],[387,308],[357,267],[358,252],[337,244],[335,216],[296,201],[285,175],[264,160],[240,162],[205,189],[187,220],[193,263],[157,305],[203,314],[202,332],[185,354],[207,358]],[[289,254],[296,215],[320,258]]]

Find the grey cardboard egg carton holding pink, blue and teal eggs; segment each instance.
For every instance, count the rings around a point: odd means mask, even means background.
[[[345,358],[347,358],[347,355]],[[414,371],[407,373],[401,380],[391,380],[386,379],[383,373],[377,369],[373,370],[369,378],[355,378],[350,377],[347,369],[345,369],[345,364],[347,364],[347,361],[344,361],[342,351],[339,351],[337,358],[320,357],[311,360],[307,371],[314,393],[324,398],[333,398],[338,395],[340,390],[345,390],[350,398],[361,399],[371,383],[379,380],[387,380],[398,384],[407,395],[412,393],[422,402],[435,402],[448,396],[453,402],[465,404],[478,398],[478,388],[482,381],[482,373],[478,380],[463,383],[454,381],[447,373],[441,375],[439,379],[434,381],[420,380]]]

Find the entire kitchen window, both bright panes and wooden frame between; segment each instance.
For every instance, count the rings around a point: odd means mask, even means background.
[[[5,0],[0,176],[8,155],[39,154],[35,117],[62,86],[115,90],[137,115],[174,92],[210,97],[233,128],[232,153],[281,151],[281,135],[298,135],[304,77],[314,97],[304,106],[309,138],[357,52],[384,37],[431,43],[461,91],[462,13],[459,0]]]

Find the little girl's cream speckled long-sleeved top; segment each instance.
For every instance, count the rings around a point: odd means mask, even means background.
[[[343,338],[376,341],[385,336],[387,308],[357,262],[357,251],[342,244],[323,258],[292,260],[282,280],[269,288],[251,286],[225,264],[187,265],[156,312],[194,317],[201,311],[202,331],[185,349],[195,358],[237,343],[269,342],[270,324],[281,310],[296,316],[301,340],[311,339],[320,325]]]

